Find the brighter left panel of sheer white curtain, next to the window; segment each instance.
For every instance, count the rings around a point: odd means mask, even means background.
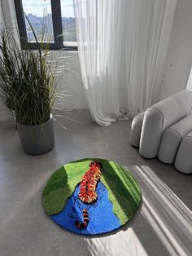
[[[119,114],[120,1],[74,0],[82,79],[94,120],[109,126]]]

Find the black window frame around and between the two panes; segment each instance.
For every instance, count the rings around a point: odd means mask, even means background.
[[[22,49],[29,47],[30,49],[37,50],[40,43],[28,42],[27,30],[24,21],[24,9],[22,0],[14,0],[15,11],[17,17],[17,23],[20,32],[20,43]],[[62,16],[61,16],[61,3],[60,0],[50,0],[51,12],[52,12],[52,23],[54,42],[50,42],[50,50],[64,50],[64,51],[78,51],[77,46],[65,46],[63,42],[63,27],[62,27]],[[45,43],[46,45],[46,43]]]

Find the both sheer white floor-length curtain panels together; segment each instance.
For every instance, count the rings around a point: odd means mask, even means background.
[[[98,124],[116,120],[122,97],[131,116],[158,98],[176,2],[73,0],[85,94]]]

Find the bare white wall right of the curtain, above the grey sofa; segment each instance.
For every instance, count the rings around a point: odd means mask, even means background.
[[[177,0],[160,99],[185,89],[192,66],[192,0]]]

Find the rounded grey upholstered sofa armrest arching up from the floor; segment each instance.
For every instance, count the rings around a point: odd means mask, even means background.
[[[190,90],[181,90],[151,108],[147,108],[139,148],[142,157],[156,157],[164,130],[186,117],[191,108],[192,93]]]

